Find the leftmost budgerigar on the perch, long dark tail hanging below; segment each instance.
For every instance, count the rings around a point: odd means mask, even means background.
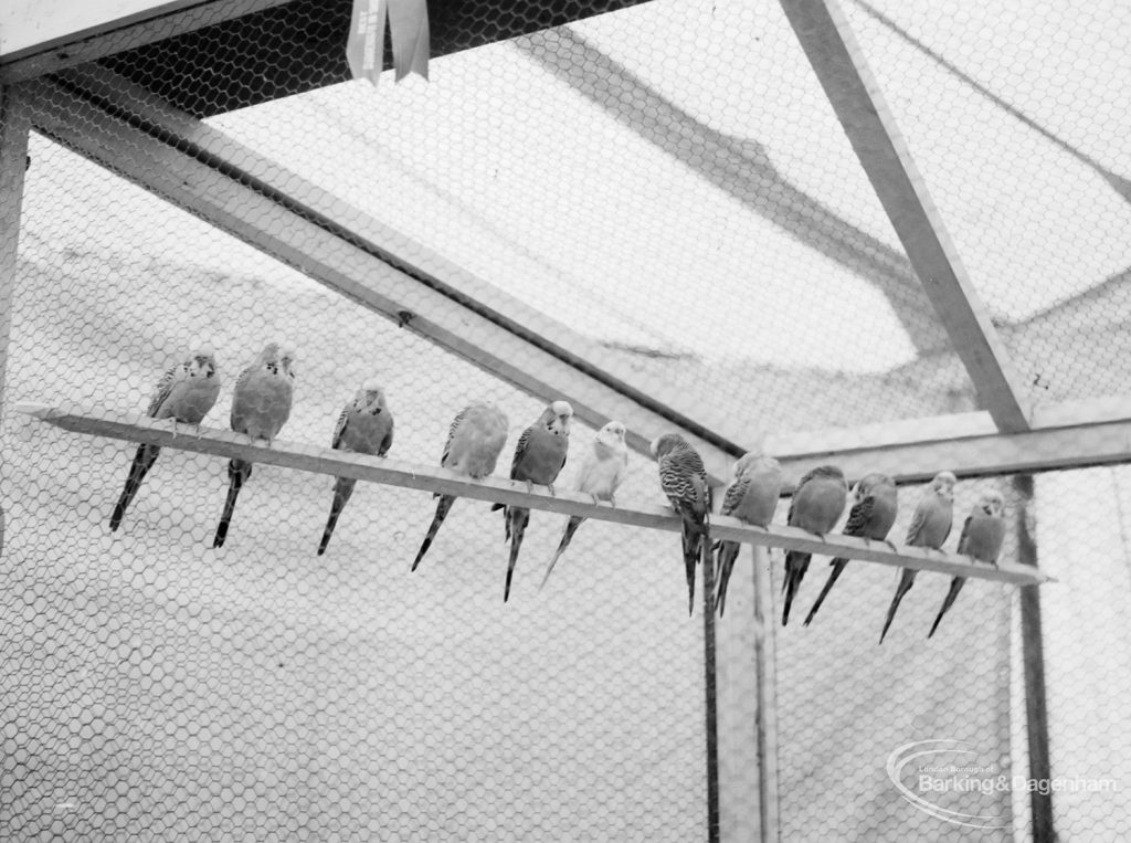
[[[199,425],[219,396],[219,370],[216,356],[207,345],[197,349],[185,360],[170,368],[154,389],[146,414],[150,419],[172,419],[173,433],[176,423]],[[110,528],[118,530],[141,487],[141,481],[157,461],[161,448],[156,445],[139,445],[126,476],[126,487],[118,497],[118,504],[110,516]]]

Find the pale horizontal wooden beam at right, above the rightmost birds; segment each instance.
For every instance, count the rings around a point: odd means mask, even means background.
[[[1038,407],[1033,429],[999,433],[987,412],[910,419],[853,429],[770,436],[767,454],[797,479],[823,463],[849,478],[884,472],[900,483],[942,470],[959,478],[1060,471],[1131,462],[1131,398],[1095,398]]]

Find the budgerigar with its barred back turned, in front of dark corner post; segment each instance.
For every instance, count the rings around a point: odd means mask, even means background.
[[[702,457],[679,433],[651,444],[659,467],[659,488],[683,522],[683,567],[688,576],[688,614],[694,611],[696,562],[710,552],[711,489]],[[714,595],[711,595],[714,596]]]

